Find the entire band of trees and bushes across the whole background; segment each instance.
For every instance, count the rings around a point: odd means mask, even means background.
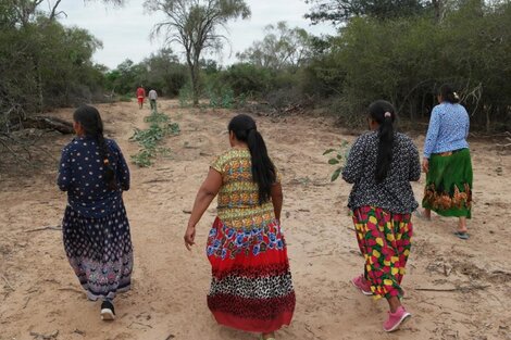
[[[140,63],[126,60],[109,71],[91,62],[101,42],[84,29],[63,27],[58,11],[41,11],[34,7],[37,1],[2,0],[1,130],[26,114],[55,106],[111,95],[129,100],[139,85],[160,96],[179,96],[182,105],[197,104],[199,98],[227,109],[254,100],[281,112],[315,105],[345,125],[363,122],[369,103],[385,99],[401,118],[426,122],[444,83],[461,95],[473,128],[511,128],[509,1],[307,2],[313,4],[307,16],[313,23],[333,22],[336,35],[314,37],[283,22],[269,25],[263,39],[237,53],[237,63],[221,66],[200,55],[222,46],[219,27],[250,13],[244,1],[148,0],[152,11],[175,10],[165,12],[169,21],[157,26],[167,42],[197,39],[192,32],[204,23],[205,13],[216,21],[203,33],[202,46],[183,45],[188,48],[184,60],[167,47]],[[191,30],[179,32],[179,21]]]

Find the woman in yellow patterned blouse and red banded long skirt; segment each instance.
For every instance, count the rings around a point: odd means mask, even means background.
[[[219,194],[207,244],[213,275],[208,306],[219,324],[275,339],[274,332],[290,324],[295,311],[279,222],[281,178],[250,116],[235,116],[228,133],[232,149],[210,166],[194,203],[185,245],[195,244],[196,225]]]

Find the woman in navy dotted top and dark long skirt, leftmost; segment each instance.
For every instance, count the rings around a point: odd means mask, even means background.
[[[62,222],[71,266],[91,301],[102,301],[101,318],[115,318],[113,299],[130,287],[133,249],[123,191],[129,169],[119,146],[103,137],[92,106],[74,113],[77,137],[62,151],[58,185],[67,192]]]

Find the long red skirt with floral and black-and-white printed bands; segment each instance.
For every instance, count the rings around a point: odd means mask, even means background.
[[[276,221],[237,229],[216,218],[207,253],[213,274],[208,306],[219,324],[254,332],[290,324],[295,290]]]

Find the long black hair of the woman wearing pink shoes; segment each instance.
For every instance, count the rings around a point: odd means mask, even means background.
[[[376,182],[382,182],[387,178],[390,163],[392,162],[394,121],[396,121],[396,111],[389,102],[377,100],[369,106],[369,114],[373,121],[379,124],[379,142],[375,177]]]

